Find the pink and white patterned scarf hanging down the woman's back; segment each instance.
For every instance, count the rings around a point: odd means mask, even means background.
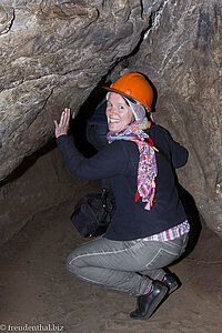
[[[158,175],[158,167],[155,160],[157,148],[153,147],[153,142],[150,137],[143,131],[151,127],[151,122],[144,118],[143,120],[137,120],[128,125],[122,131],[114,133],[109,132],[107,138],[111,143],[114,140],[131,140],[138,144],[140,152],[140,161],[138,168],[138,190],[135,193],[135,202],[142,198],[142,202],[147,202],[145,209],[150,210],[152,206],[154,193],[155,193],[155,178]],[[144,141],[149,140],[149,143]]]

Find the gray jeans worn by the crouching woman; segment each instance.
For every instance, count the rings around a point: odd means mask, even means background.
[[[173,241],[111,241],[99,236],[70,253],[68,270],[80,280],[130,293],[144,294],[152,280],[185,250],[188,233]]]

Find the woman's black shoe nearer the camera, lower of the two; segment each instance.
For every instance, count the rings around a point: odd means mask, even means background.
[[[135,320],[150,317],[158,309],[168,291],[169,289],[164,283],[158,280],[153,281],[150,292],[138,297],[138,309],[130,313],[130,317]]]

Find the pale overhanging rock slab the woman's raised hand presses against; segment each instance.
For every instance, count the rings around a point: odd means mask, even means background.
[[[0,179],[73,115],[149,26],[141,1],[1,1]]]

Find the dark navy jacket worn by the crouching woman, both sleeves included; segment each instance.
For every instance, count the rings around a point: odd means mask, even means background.
[[[110,240],[129,241],[153,235],[186,219],[173,170],[186,163],[188,151],[160,125],[153,124],[148,133],[162,152],[155,153],[158,176],[150,211],[144,209],[145,203],[141,200],[134,201],[139,164],[137,143],[115,140],[91,159],[85,159],[67,135],[57,139],[58,148],[74,176],[83,180],[110,179],[117,204],[114,218],[104,234]]]

